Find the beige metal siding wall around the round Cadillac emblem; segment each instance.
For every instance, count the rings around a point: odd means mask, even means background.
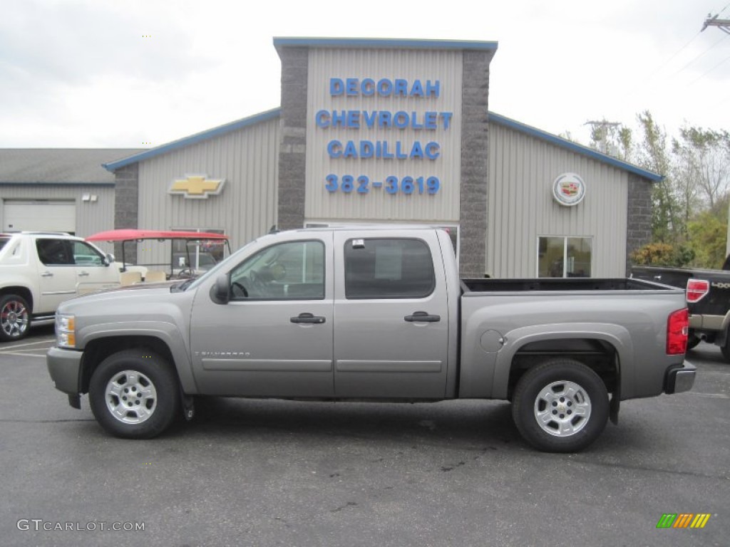
[[[496,123],[489,154],[491,276],[537,277],[539,236],[592,236],[593,277],[624,276],[628,174]],[[566,172],[585,182],[585,198],[574,207],[553,200],[553,181]]]

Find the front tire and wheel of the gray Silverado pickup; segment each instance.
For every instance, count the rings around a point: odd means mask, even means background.
[[[96,421],[115,437],[153,438],[179,414],[177,374],[159,354],[126,349],[107,357],[93,372],[89,403]]]

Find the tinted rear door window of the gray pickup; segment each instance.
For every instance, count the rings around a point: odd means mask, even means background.
[[[429,246],[420,239],[345,242],[345,297],[426,298],[436,284]]]

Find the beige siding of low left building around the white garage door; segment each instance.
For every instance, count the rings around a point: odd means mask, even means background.
[[[96,203],[81,201],[85,193],[98,196]],[[12,185],[0,186],[0,200],[73,200],[76,202],[76,235],[91,236],[114,228],[114,187],[112,186],[53,186]],[[0,206],[0,226],[3,225]],[[105,250],[110,251],[107,247]]]

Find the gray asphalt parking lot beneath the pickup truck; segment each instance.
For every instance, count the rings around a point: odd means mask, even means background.
[[[590,449],[556,455],[491,401],[215,399],[121,441],[53,388],[52,333],[0,345],[2,545],[729,544],[730,365],[713,346],[688,354],[693,392],[623,403]],[[710,518],[658,529],[664,513]]]

